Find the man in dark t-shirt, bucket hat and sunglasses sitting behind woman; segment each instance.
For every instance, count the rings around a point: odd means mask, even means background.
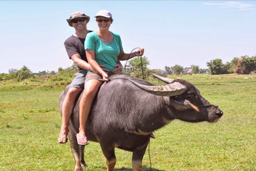
[[[87,30],[87,23],[90,20],[90,16],[86,16],[82,12],[74,12],[71,14],[69,19],[67,19],[69,26],[75,28],[75,33],[70,36],[64,43],[66,51],[70,59],[74,61],[74,63],[78,66],[78,73],[75,74],[75,78],[70,84],[69,91],[63,101],[62,108],[62,126],[60,128],[60,134],[58,137],[59,143],[66,143],[68,141],[68,123],[70,116],[72,114],[72,110],[74,107],[74,103],[77,95],[83,90],[85,84],[85,76],[87,70],[92,72],[96,72],[93,68],[88,64],[85,55],[85,37],[87,33],[91,32]],[[103,70],[108,73],[108,70],[101,65]],[[120,73],[122,71],[122,64],[118,61],[116,68],[113,70],[113,73]]]

